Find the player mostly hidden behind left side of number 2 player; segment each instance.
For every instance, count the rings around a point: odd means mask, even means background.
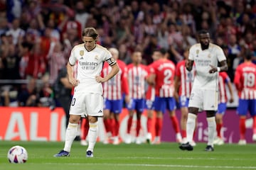
[[[161,57],[160,52],[153,52],[152,55],[152,60],[156,61],[159,60]],[[150,65],[148,66],[148,71],[149,71]],[[146,115],[147,115],[147,120],[146,120],[146,129],[147,129],[147,134],[146,134],[146,142],[151,143],[152,140],[152,128],[154,127],[153,125],[153,117],[154,117],[154,99],[156,95],[156,90],[154,86],[151,84],[147,84],[147,89],[146,89]]]

